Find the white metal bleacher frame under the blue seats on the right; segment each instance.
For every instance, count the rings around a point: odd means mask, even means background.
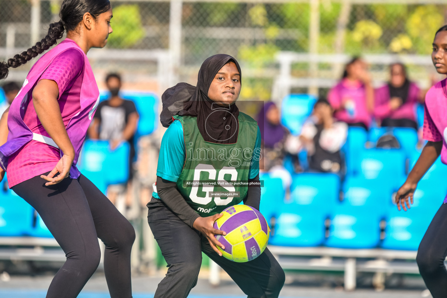
[[[345,290],[355,289],[358,272],[419,274],[417,251],[273,245],[268,248],[286,270],[344,272]]]

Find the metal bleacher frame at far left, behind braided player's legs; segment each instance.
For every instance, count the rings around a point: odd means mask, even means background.
[[[0,237],[0,260],[64,262],[66,257],[54,238]]]

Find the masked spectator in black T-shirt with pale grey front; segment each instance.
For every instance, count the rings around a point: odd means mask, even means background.
[[[122,142],[129,142],[129,181],[133,177],[132,159],[135,156],[134,134],[137,129],[139,115],[133,101],[119,96],[121,76],[112,73],[105,78],[105,84],[110,91],[110,98],[102,101],[93,116],[89,127],[91,139],[109,140],[114,150]],[[114,199],[110,197],[110,201]]]

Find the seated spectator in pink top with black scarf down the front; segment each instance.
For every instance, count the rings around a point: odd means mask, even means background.
[[[413,127],[417,130],[416,105],[423,94],[407,77],[405,66],[394,63],[390,67],[390,81],[375,90],[375,117],[382,126]]]

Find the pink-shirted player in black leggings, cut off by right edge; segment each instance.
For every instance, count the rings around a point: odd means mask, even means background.
[[[427,45],[428,46],[428,45]],[[434,36],[433,52],[431,59],[438,73],[447,74],[447,25],[441,27]],[[417,159],[407,180],[396,193],[397,209],[410,208],[413,204],[413,196],[417,183],[422,176],[432,166],[441,155],[441,161],[447,164],[447,79],[435,84],[426,94],[425,98],[425,118],[424,118],[424,139],[426,143],[421,156]],[[439,183],[443,183],[445,177],[440,177]],[[443,183],[445,184],[445,183]],[[433,187],[436,182],[433,183]],[[441,187],[443,185],[440,185]],[[439,197],[439,203],[442,197]],[[423,197],[421,202],[430,201]],[[433,201],[433,199],[431,199]],[[430,204],[430,203],[428,203]],[[426,216],[424,209],[416,209],[412,212],[419,212],[419,216]],[[415,216],[412,215],[412,216]],[[447,297],[447,270],[444,260],[447,256],[447,197],[434,215],[419,248],[417,249],[417,266],[424,282],[430,290],[433,298]],[[418,225],[419,223],[413,223]]]

